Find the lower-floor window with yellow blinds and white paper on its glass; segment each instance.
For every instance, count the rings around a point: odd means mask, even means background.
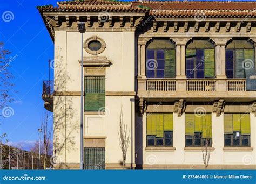
[[[224,146],[250,147],[250,114],[224,114]]]

